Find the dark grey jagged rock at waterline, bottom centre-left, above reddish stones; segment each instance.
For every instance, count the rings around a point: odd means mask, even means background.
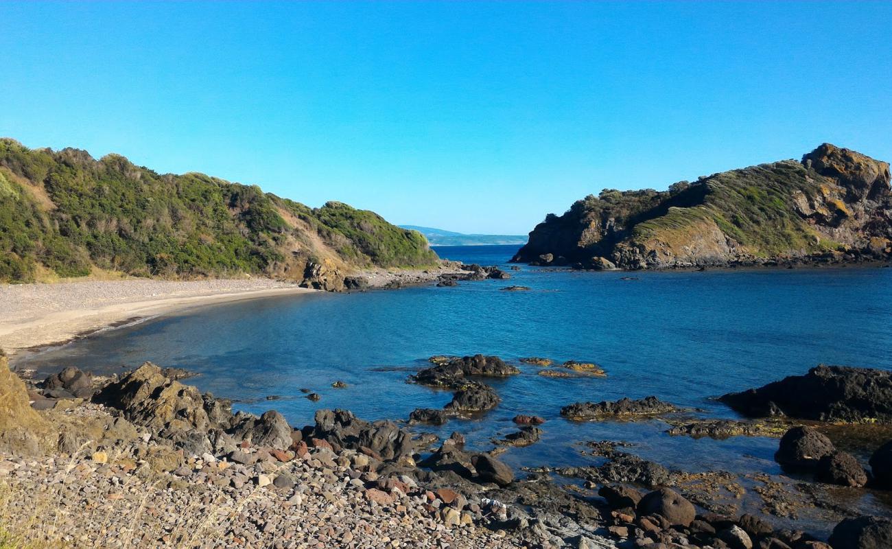
[[[384,460],[410,456],[415,450],[415,443],[409,432],[399,428],[393,421],[369,423],[359,420],[346,410],[316,412],[316,426],[310,437],[321,438],[352,450],[368,448]]]

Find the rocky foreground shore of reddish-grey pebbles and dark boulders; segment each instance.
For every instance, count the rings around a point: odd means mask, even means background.
[[[485,411],[480,402],[500,397],[481,380],[518,373],[492,356],[431,362],[412,380],[455,395],[442,411],[419,412],[418,421],[434,412],[451,418]],[[805,377],[815,372],[826,373],[818,368]],[[823,396],[847,417],[863,419],[888,398],[887,372],[830,372],[836,392],[827,388]],[[47,546],[441,549],[872,549],[892,539],[892,520],[857,516],[826,501],[821,488],[892,488],[892,441],[877,447],[866,469],[820,430],[796,424],[789,412],[800,409],[792,401],[811,398],[803,393],[769,407],[770,425],[702,420],[673,434],[766,436],[786,422],[776,460],[800,478],[813,475],[814,487],[767,475],[671,470],[615,441],[590,445],[605,458],[599,465],[518,475],[500,461],[500,448],[536,444],[541,418],[516,416],[516,432],[480,452],[458,433],[438,440],[343,410],[319,410],[302,428],[275,411],[234,413],[227,400],[178,381],[186,376],[151,363],[112,378],[70,368],[26,387],[0,358],[0,536]],[[871,387],[869,395],[852,394],[853,379]],[[654,397],[566,410],[574,419],[625,421],[681,412]],[[752,512],[739,514],[733,501],[748,490],[766,513],[813,505],[842,520],[829,538],[776,528]]]

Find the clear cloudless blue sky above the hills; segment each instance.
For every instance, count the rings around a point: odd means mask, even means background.
[[[0,4],[0,135],[396,223],[892,159],[892,3]]]

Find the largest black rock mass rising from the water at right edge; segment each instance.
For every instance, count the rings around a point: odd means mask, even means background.
[[[818,366],[719,400],[752,417],[787,415],[821,421],[892,421],[892,372]]]

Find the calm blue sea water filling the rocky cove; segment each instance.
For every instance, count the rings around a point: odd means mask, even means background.
[[[514,246],[437,249],[449,259],[503,264]],[[710,270],[628,273],[546,271],[522,266],[511,280],[458,287],[410,287],[350,295],[319,294],[223,304],[98,333],[22,357],[41,373],[75,365],[95,373],[151,360],[194,370],[202,390],[236,401],[235,408],[276,408],[294,425],[320,408],[347,408],[365,419],[407,418],[417,407],[442,407],[450,393],[405,383],[433,354],[496,354],[516,361],[545,356],[597,362],[607,378],[543,378],[538,367],[490,381],[503,402],[476,420],[424,428],[442,436],[465,432],[469,443],[514,430],[517,413],[548,422],[542,441],[512,448],[512,465],[592,462],[581,441],[625,440],[631,451],[681,470],[780,470],[777,440],[724,441],[669,437],[659,420],[636,423],[563,420],[577,401],[657,395],[735,417],[710,400],[756,387],[819,363],[892,369],[892,269]],[[529,292],[502,292],[523,285]],[[345,389],[331,388],[336,379]],[[312,403],[307,387],[322,395]],[[275,402],[267,396],[277,395]],[[863,502],[862,502],[863,503]]]

